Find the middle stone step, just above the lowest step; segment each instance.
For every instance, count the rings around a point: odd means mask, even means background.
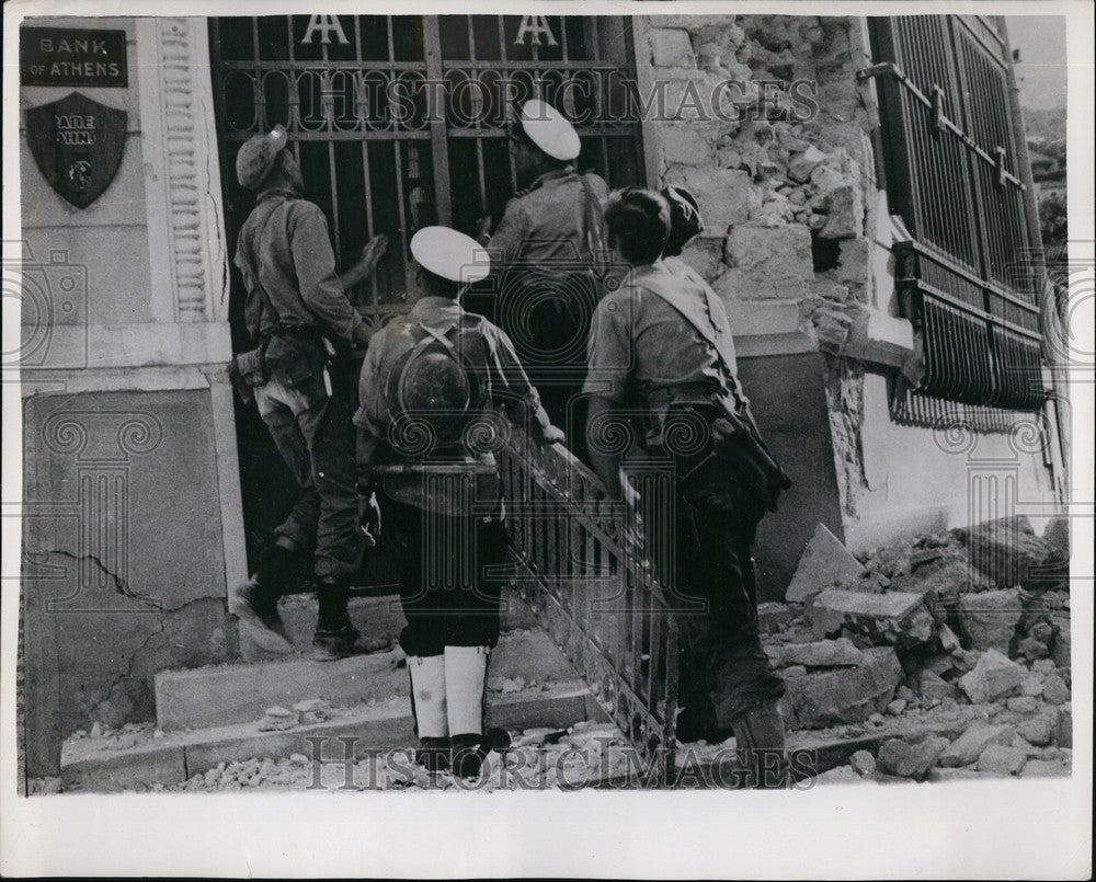
[[[522,678],[526,684],[575,680],[567,657],[539,630],[509,631],[491,654],[488,677]],[[308,656],[254,664],[161,671],[155,678],[156,719],[164,732],[258,720],[266,708],[290,708],[322,698],[332,706],[359,705],[408,694],[400,650],[336,662]]]

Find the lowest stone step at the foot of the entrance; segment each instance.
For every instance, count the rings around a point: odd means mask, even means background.
[[[487,722],[492,728],[567,729],[586,719],[602,720],[604,714],[579,680],[488,694]],[[279,759],[293,754],[312,758],[317,744],[322,757],[333,759],[343,758],[349,751],[361,758],[367,752],[411,747],[415,744],[411,703],[407,698],[390,698],[336,708],[330,720],[285,732],[260,732],[258,723],[251,721],[170,732],[161,737],[144,732],[69,738],[61,751],[61,781],[66,791],[147,789],[153,783],[181,783],[220,763]]]

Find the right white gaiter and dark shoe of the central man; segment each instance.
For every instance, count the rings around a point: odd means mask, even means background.
[[[483,736],[487,646],[445,648],[445,694],[449,722],[449,767],[458,778],[476,778],[488,751]]]

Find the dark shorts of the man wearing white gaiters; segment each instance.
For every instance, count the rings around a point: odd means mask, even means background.
[[[425,512],[380,499],[381,535],[395,555],[408,655],[439,655],[446,646],[494,646],[506,561],[500,519]],[[494,573],[489,573],[494,568]]]

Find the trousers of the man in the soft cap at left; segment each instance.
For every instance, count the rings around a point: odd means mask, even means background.
[[[357,531],[354,433],[346,392],[329,397],[322,376],[300,387],[276,377],[255,388],[259,413],[300,495],[274,530],[294,548],[315,548],[318,577],[356,573],[363,542]]]

